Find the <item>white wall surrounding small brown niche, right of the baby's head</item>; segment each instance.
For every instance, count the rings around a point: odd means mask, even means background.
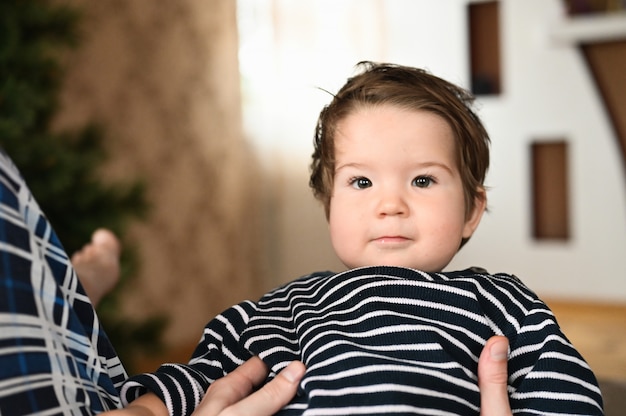
[[[484,102],[493,139],[492,213],[455,265],[480,259],[543,296],[626,300],[626,171],[617,139],[578,49],[553,40],[561,1],[503,2],[504,90]],[[530,236],[529,143],[570,143],[572,238]]]

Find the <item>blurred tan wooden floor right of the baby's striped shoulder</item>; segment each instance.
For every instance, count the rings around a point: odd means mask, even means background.
[[[626,304],[546,303],[596,377],[626,380]]]

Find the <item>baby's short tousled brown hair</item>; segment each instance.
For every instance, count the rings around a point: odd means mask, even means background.
[[[425,70],[401,65],[360,62],[362,71],[325,106],[315,129],[309,185],[322,202],[328,218],[335,174],[335,133],[338,123],[363,106],[394,105],[408,110],[428,111],[442,117],[452,128],[457,164],[465,194],[465,209],[474,208],[483,197],[489,167],[489,135],[472,111],[474,97],[465,89]]]

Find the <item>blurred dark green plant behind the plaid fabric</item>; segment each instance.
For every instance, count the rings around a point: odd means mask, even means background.
[[[99,227],[124,241],[128,224],[148,211],[139,179],[113,183],[99,174],[107,158],[102,126],[51,129],[64,77],[62,57],[79,45],[80,19],[79,10],[45,0],[0,2],[0,146],[22,172],[68,253]],[[120,284],[98,314],[132,372],[134,354],[158,350],[166,320],[120,315],[119,294],[138,270],[136,253],[124,246]]]

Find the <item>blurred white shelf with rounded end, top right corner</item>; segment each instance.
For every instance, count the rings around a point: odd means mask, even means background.
[[[626,12],[570,17],[551,31],[558,43],[592,43],[626,39]]]

